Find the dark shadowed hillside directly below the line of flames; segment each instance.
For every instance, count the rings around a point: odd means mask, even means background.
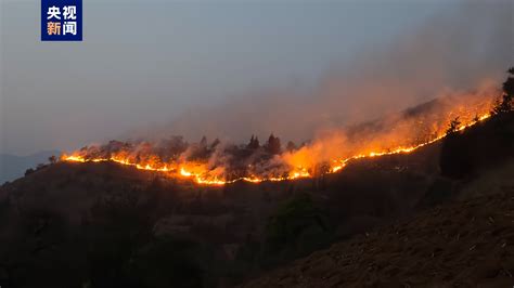
[[[492,187],[507,195],[513,123],[492,119],[411,154],[297,181],[201,186],[113,162],[41,167],[0,188],[0,285],[231,287],[420,210]],[[464,178],[441,176],[440,150],[462,147],[486,156]],[[446,155],[441,165],[457,154]],[[423,221],[426,230],[409,237],[436,230]]]

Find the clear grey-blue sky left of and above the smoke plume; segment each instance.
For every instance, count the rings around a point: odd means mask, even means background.
[[[0,153],[13,154],[116,139],[248,91],[316,87],[457,6],[83,0],[83,41],[41,42],[40,1],[0,1]]]

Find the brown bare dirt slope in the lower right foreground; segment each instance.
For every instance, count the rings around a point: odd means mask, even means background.
[[[339,243],[244,287],[513,287],[514,186]]]

